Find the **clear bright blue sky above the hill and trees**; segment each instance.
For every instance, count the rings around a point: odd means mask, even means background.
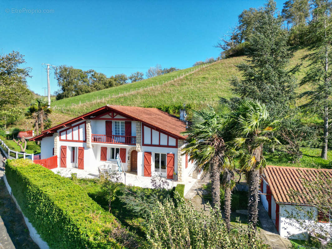
[[[282,9],[284,1],[277,1]],[[235,1],[2,1],[0,52],[17,50],[32,67],[31,90],[43,95],[41,63],[94,69],[108,77],[150,66],[187,68],[217,57],[213,45],[243,9],[263,0]],[[53,13],[33,13],[33,12]],[[9,12],[9,13],[7,13]],[[20,13],[21,12],[21,13]],[[50,74],[51,93],[58,89]],[[46,91],[47,93],[47,91]]]

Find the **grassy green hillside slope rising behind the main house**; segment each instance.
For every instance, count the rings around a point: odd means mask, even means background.
[[[300,58],[304,54],[304,49],[297,51],[291,60],[290,66],[300,63]],[[54,101],[52,102],[52,107],[55,112],[64,112],[70,115],[83,114],[106,104],[158,107],[177,114],[174,109],[178,109],[183,103],[186,103],[191,108],[199,108],[207,103],[215,103],[219,100],[219,97],[228,99],[234,96],[230,90],[229,80],[233,76],[240,77],[235,65],[242,62],[244,58],[245,56],[240,56],[220,60],[179,79],[177,79],[177,75],[188,71],[191,72],[191,68],[131,84]],[[297,78],[301,79],[304,72],[305,68],[302,66],[300,72],[296,75]],[[160,84],[160,82],[171,77],[172,79],[174,77],[176,79],[162,85]],[[154,85],[153,88],[152,84]],[[141,87],[143,90],[139,90]],[[144,89],[144,87],[148,88]],[[302,86],[298,91],[303,91],[307,88],[307,86]],[[124,94],[124,91],[126,91],[126,94]],[[113,94],[115,97],[113,97]],[[109,96],[111,97],[109,98]],[[81,101],[80,105],[79,101]]]

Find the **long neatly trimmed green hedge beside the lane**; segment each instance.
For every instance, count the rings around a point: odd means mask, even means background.
[[[113,214],[71,180],[29,159],[7,160],[6,178],[24,215],[50,248],[123,248]]]

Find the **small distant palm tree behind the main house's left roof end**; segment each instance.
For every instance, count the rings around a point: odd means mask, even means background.
[[[48,115],[51,112],[52,110],[48,108],[47,100],[43,97],[36,99],[28,108],[25,116],[34,120],[33,127],[37,131],[37,135],[40,134],[40,131],[42,131],[45,126],[50,126]]]

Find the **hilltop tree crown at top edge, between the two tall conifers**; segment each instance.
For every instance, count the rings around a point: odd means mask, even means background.
[[[287,25],[303,26],[310,17],[310,5],[308,0],[289,0],[284,3],[282,17]]]

